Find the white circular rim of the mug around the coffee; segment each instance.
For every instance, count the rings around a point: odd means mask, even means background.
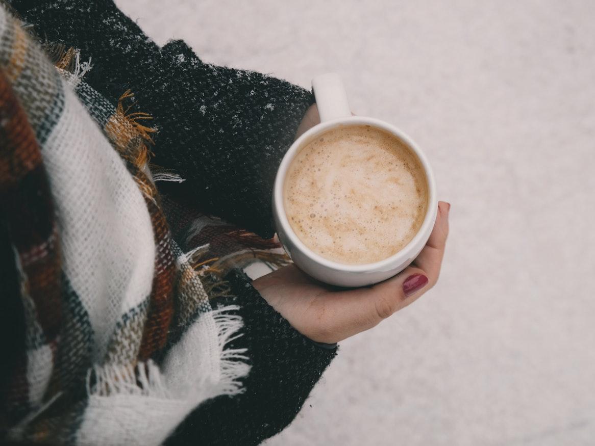
[[[313,250],[311,250],[308,246],[306,246],[305,243],[302,242],[302,240],[300,240],[299,237],[297,237],[297,234],[293,231],[293,228],[289,224],[289,220],[287,219],[287,215],[285,213],[283,200],[283,186],[287,175],[287,170],[289,169],[289,166],[293,161],[293,158],[295,158],[295,156],[297,155],[298,150],[301,149],[305,145],[305,143],[308,142],[308,140],[314,139],[314,137],[318,136],[318,134],[331,130],[331,128],[333,127],[339,127],[342,124],[373,125],[376,128],[380,128],[381,130],[392,133],[394,136],[402,140],[402,142],[404,142],[409,147],[409,149],[412,150],[418,157],[422,167],[424,168],[426,180],[428,182],[428,209],[425,213],[424,221],[419,227],[419,230],[409,241],[409,243],[406,244],[402,249],[394,253],[392,256],[386,257],[386,259],[378,260],[378,262],[351,265],[349,263],[335,262],[334,260],[322,257],[320,254],[317,254]],[[433,227],[434,225],[438,208],[436,201],[436,181],[434,180],[434,174],[431,169],[430,163],[428,162],[428,159],[426,158],[424,152],[422,152],[422,150],[419,148],[417,143],[415,143],[414,140],[408,136],[408,134],[406,134],[404,131],[400,130],[392,124],[378,120],[377,118],[362,116],[351,116],[345,118],[337,118],[335,120],[330,121],[324,121],[310,128],[308,131],[303,133],[299,138],[297,138],[293,142],[293,144],[289,147],[289,150],[287,150],[287,152],[283,156],[281,164],[277,169],[277,175],[275,176],[275,183],[273,189],[273,206],[275,208],[274,212],[277,215],[278,222],[283,227],[284,235],[290,238],[290,241],[293,243],[293,246],[297,247],[297,249],[299,249],[311,260],[314,260],[314,262],[330,269],[345,272],[383,271],[391,269],[394,267],[394,265],[402,263],[405,260],[409,260],[409,256],[411,256],[412,254],[415,255],[415,253],[412,253],[412,249],[415,249],[419,245],[421,238],[427,238],[430,234],[428,230],[431,231],[431,227]]]

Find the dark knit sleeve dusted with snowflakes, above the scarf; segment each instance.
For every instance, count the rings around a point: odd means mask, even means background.
[[[179,40],[159,48],[112,0],[12,5],[39,36],[92,58],[85,80],[105,98],[115,102],[131,89],[137,111],[154,118],[143,124],[158,128],[152,161],[186,179],[168,193],[273,236],[275,172],[314,101],[311,92],[264,74],[204,64]]]

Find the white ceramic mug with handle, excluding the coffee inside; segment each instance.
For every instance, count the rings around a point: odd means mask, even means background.
[[[403,271],[418,256],[428,241],[434,227],[434,222],[436,221],[438,202],[436,198],[436,184],[430,164],[418,145],[403,133],[403,131],[375,118],[352,116],[349,102],[347,102],[345,87],[343,87],[341,78],[336,73],[328,73],[315,77],[312,80],[312,90],[316,98],[321,123],[315,125],[295,140],[283,157],[283,161],[281,161],[281,165],[277,171],[277,177],[275,178],[273,215],[279,240],[283,244],[287,254],[302,271],[327,284],[342,287],[362,287],[393,277],[400,271]],[[295,232],[293,232],[284,211],[283,184],[287,169],[293,158],[295,158],[302,147],[320,136],[320,134],[343,125],[372,125],[393,134],[415,152],[425,169],[429,194],[428,210],[424,222],[415,237],[402,250],[384,260],[380,260],[380,262],[364,265],[346,265],[325,259],[302,243]],[[354,147],[353,150],[357,150],[357,147]]]

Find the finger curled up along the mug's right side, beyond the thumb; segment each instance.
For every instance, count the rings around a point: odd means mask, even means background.
[[[423,269],[428,273],[430,284],[436,284],[440,275],[440,267],[442,265],[442,257],[444,256],[444,248],[446,247],[446,238],[448,237],[449,225],[448,215],[450,211],[450,204],[445,202],[438,203],[438,215],[434,229],[430,234],[428,243],[424,249],[414,260],[413,265]]]

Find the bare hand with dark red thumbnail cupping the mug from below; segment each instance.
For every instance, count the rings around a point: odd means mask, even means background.
[[[370,287],[338,289],[295,265],[264,275],[253,286],[292,326],[320,343],[336,343],[378,325],[436,284],[448,235],[449,203],[439,202],[436,224],[414,263]]]

